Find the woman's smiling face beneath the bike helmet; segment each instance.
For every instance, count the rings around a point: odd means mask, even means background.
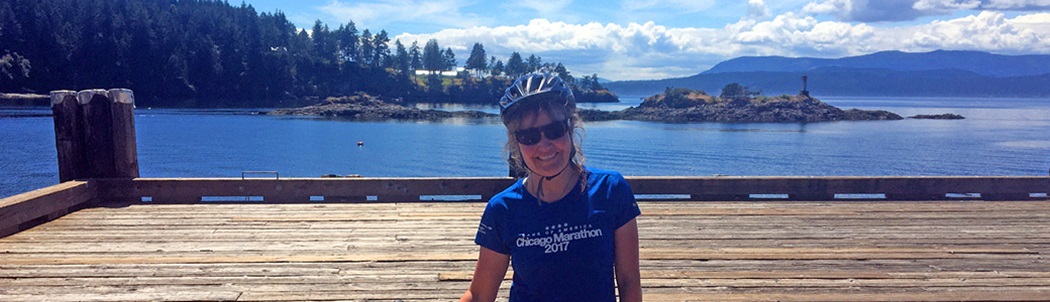
[[[525,115],[519,130],[541,128],[552,123],[565,123],[565,118],[567,117],[555,121],[549,113],[541,110],[538,113]],[[565,169],[565,166],[572,159],[569,157],[572,154],[571,129],[570,125],[566,131],[567,133],[555,139],[550,139],[546,134],[542,134],[540,142],[534,145],[517,143],[522,151],[522,158],[525,159],[525,165],[528,165],[533,174],[553,176],[562,172],[562,169]]]

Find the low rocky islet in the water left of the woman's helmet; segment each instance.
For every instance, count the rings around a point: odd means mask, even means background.
[[[352,121],[439,121],[452,117],[494,117],[496,114],[481,111],[441,111],[422,110],[391,104],[364,93],[352,96],[329,98],[316,105],[302,108],[276,109],[267,112],[270,115],[313,115],[329,116]]]

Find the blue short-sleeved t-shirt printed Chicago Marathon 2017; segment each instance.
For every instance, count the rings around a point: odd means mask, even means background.
[[[562,199],[543,202],[518,180],[488,201],[475,242],[510,255],[510,301],[615,301],[614,232],[642,214],[620,173],[585,169]]]

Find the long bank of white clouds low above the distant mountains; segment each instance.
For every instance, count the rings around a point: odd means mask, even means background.
[[[820,21],[782,14],[743,18],[721,28],[667,27],[656,22],[572,24],[533,19],[516,26],[475,26],[395,37],[405,44],[438,39],[466,56],[475,42],[506,61],[511,51],[562,62],[575,74],[612,80],[692,76],[741,56],[839,58],[881,50],[970,49],[1000,53],[1050,53],[1050,14],[1007,18],[983,12],[909,26]],[[421,42],[422,43],[422,42]]]

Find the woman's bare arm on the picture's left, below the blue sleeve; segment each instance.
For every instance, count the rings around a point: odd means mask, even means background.
[[[478,254],[478,265],[474,268],[474,278],[470,279],[470,288],[460,297],[460,302],[496,301],[509,265],[510,256],[482,246]]]

